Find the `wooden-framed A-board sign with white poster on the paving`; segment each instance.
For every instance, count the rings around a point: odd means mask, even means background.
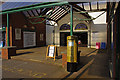
[[[56,57],[56,46],[55,45],[48,45],[47,52],[46,52],[46,59],[48,57],[54,58],[54,61],[55,61],[55,57]]]

